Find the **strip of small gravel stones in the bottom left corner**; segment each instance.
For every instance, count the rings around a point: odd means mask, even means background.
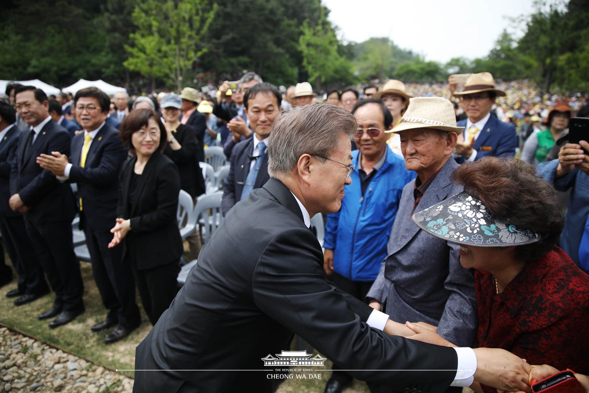
[[[133,379],[0,328],[0,392],[131,393]]]

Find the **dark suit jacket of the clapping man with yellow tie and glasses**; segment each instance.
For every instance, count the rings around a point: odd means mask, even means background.
[[[118,131],[105,124],[98,131],[86,156],[84,167],[80,166],[84,134],[72,139],[70,163],[71,183],[78,184],[78,197],[82,198],[80,225],[90,220],[100,230],[110,230],[117,218],[118,174],[127,159]]]

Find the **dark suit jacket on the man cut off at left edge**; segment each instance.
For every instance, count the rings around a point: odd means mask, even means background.
[[[3,217],[21,215],[21,213],[12,210],[8,204],[8,200],[12,196],[10,193],[10,171],[16,157],[16,147],[20,135],[21,131],[16,128],[16,124],[13,124],[0,141],[0,215]]]

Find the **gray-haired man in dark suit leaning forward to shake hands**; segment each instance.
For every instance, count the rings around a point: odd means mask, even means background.
[[[473,376],[529,389],[531,366],[517,356],[388,336],[408,328],[326,281],[310,217],[339,210],[357,127],[334,105],[306,105],[274,123],[272,179],[227,214],[137,347],[135,392],[272,392],[276,374],[263,359],[293,333],[354,377],[396,391],[441,393]],[[239,234],[247,241],[227,247]]]

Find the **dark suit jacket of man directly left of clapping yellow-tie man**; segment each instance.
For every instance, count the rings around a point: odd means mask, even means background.
[[[25,144],[32,132],[22,131],[19,137],[16,159],[11,168],[10,191],[20,194],[22,202],[28,206],[25,219],[37,223],[70,222],[76,211],[70,184],[61,183],[54,174],[37,164],[41,153],[51,155],[52,151],[59,151],[70,157],[70,134],[55,121],[49,120],[37,134],[25,157]]]

